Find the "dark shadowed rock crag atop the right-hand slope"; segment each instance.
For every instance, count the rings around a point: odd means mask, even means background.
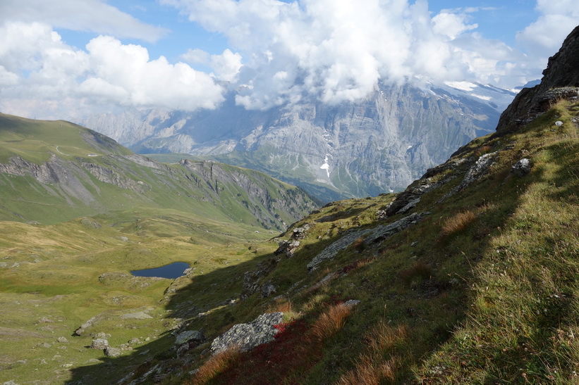
[[[540,84],[525,88],[501,114],[497,134],[516,130],[549,108],[557,99],[579,96],[579,26],[568,35],[559,52],[549,58]]]

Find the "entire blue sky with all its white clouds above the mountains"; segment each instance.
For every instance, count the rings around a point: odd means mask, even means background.
[[[0,111],[265,110],[377,84],[540,79],[576,0],[1,0]]]

